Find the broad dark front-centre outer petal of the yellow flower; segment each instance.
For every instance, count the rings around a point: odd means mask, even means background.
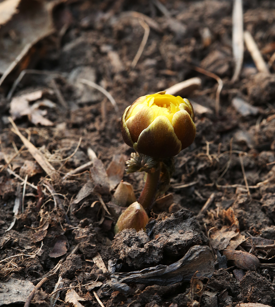
[[[141,132],[134,149],[151,157],[172,157],[180,152],[181,142],[169,119],[159,116]]]

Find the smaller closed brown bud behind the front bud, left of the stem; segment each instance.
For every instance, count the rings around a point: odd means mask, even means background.
[[[118,206],[126,207],[136,200],[133,186],[128,182],[121,181],[114,192],[113,202]]]

